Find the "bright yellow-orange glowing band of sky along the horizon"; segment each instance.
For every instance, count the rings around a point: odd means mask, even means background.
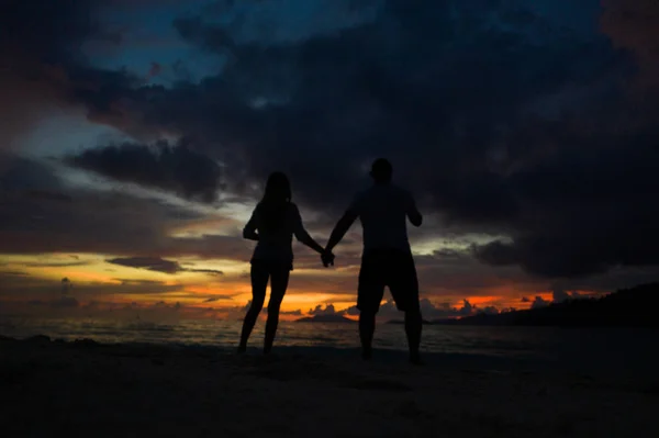
[[[203,223],[208,225],[212,223]],[[201,226],[202,222],[191,228]],[[180,312],[191,315],[242,315],[245,305],[252,300],[252,285],[247,263],[238,260],[205,260],[197,258],[179,258],[178,262],[186,269],[175,273],[152,271],[138,267],[127,267],[110,263],[111,255],[100,254],[42,254],[42,255],[0,255],[3,269],[7,271],[24,272],[23,283],[29,292],[19,296],[5,294],[4,301],[16,303],[20,300],[48,301],[62,297],[62,280],[69,279],[72,288],[67,296],[75,297],[80,308],[118,308],[131,306],[149,308],[160,306],[174,308],[177,303]],[[325,308],[333,304],[336,312],[342,312],[356,304],[357,292],[356,272],[354,267],[345,269],[295,269],[291,274],[291,284],[282,302],[281,310],[287,315],[282,319],[294,319],[308,316],[310,310],[317,305]],[[189,269],[189,270],[188,270]],[[199,271],[194,271],[194,269]],[[222,271],[214,276],[206,271]],[[487,306],[499,310],[514,307],[517,310],[530,307],[536,296],[547,302],[552,301],[550,291],[534,290],[533,283],[499,284],[484,287],[482,290],[468,293],[459,290],[453,292],[446,289],[422,293],[435,306],[449,303],[450,307],[461,308],[467,300],[476,311]],[[31,292],[34,291],[34,292]],[[268,296],[269,296],[268,290]],[[434,292],[434,293],[433,293]],[[588,296],[585,291],[579,292]],[[522,302],[522,297],[528,299]],[[267,297],[268,299],[268,297]],[[386,293],[383,302],[391,299]],[[165,303],[166,306],[163,306]],[[267,304],[267,301],[266,301]],[[160,308],[159,307],[159,308]],[[71,308],[68,311],[74,312]],[[291,315],[290,313],[297,314]],[[233,317],[233,316],[232,316]]]

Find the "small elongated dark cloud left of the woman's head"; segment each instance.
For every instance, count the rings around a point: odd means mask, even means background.
[[[170,191],[182,198],[213,202],[221,184],[220,166],[189,145],[124,143],[87,149],[67,159],[72,166],[118,181]]]

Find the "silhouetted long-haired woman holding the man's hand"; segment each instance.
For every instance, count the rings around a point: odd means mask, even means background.
[[[247,349],[247,340],[256,319],[264,307],[266,289],[270,281],[270,301],[264,352],[272,349],[279,322],[279,307],[288,288],[289,274],[293,269],[293,234],[302,244],[321,254],[323,265],[333,262],[334,256],[326,254],[304,229],[300,211],[291,202],[291,184],[282,172],[273,172],[268,178],[264,198],[254,209],[252,217],[243,229],[243,237],[257,240],[252,257],[252,305],[243,322],[238,352]]]

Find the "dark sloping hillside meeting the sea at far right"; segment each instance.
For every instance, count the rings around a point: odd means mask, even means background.
[[[599,299],[572,299],[546,307],[500,314],[480,313],[440,325],[659,327],[659,282],[623,289]]]

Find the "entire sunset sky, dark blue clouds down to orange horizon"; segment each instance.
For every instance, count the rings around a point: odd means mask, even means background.
[[[649,0],[3,1],[0,314],[239,317],[268,173],[324,245],[379,156],[425,215],[425,317],[656,280],[657,20]],[[360,234],[330,269],[294,244],[286,317],[354,313]]]

